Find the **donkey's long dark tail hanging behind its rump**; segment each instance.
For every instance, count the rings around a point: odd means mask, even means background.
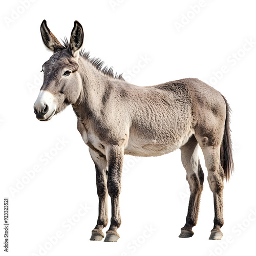
[[[233,169],[234,169],[234,163],[233,163],[233,157],[232,157],[232,142],[231,142],[231,135],[230,135],[230,107],[227,103],[226,98],[222,95],[223,99],[226,102],[226,121],[225,121],[225,130],[223,135],[223,140],[221,144],[221,151],[220,151],[220,158],[221,158],[221,166],[224,169],[224,175],[226,178],[226,181],[229,180]]]

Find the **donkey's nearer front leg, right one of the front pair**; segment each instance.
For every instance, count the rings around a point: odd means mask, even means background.
[[[123,165],[123,149],[118,145],[110,146],[107,150],[106,158],[109,163],[108,191],[111,197],[111,223],[106,231],[104,242],[116,242],[119,239],[117,228],[121,225],[119,212],[119,194],[121,191],[121,174]]]

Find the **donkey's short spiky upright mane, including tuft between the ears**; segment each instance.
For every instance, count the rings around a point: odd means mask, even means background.
[[[62,40],[62,42],[63,42],[64,47],[68,48],[68,46],[69,46],[68,38],[65,37],[64,40]],[[90,52],[86,52],[84,49],[82,49],[80,51],[80,56],[83,57],[84,59],[88,60],[90,63],[92,63],[92,65],[97,70],[102,72],[104,75],[110,76],[114,79],[124,80],[122,77],[122,74],[118,75],[117,73],[114,73],[113,67],[110,67],[110,68],[108,66],[103,67],[103,65],[104,65],[103,60],[101,60],[100,58],[96,58],[96,57],[93,57],[93,58],[90,57]]]

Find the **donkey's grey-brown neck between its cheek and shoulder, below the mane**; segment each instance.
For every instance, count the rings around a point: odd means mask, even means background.
[[[99,116],[102,108],[102,99],[108,90],[111,77],[97,70],[90,61],[79,57],[79,75],[81,77],[81,93],[73,109],[81,121],[90,116]]]

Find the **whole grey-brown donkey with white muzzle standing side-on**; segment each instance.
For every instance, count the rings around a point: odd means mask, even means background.
[[[223,184],[233,170],[227,100],[196,78],[138,87],[103,68],[98,58],[81,50],[83,29],[75,21],[70,42],[57,40],[44,20],[42,40],[53,55],[42,65],[44,82],[34,104],[40,121],[72,105],[77,129],[89,146],[96,168],[99,215],[90,240],[104,238],[108,224],[108,194],[111,223],[105,242],[119,239],[119,194],[124,154],[161,156],[178,148],[190,187],[186,223],[180,238],[192,237],[197,224],[204,174],[198,157],[202,148],[208,183],[214,196],[214,228],[209,239],[222,238]]]

